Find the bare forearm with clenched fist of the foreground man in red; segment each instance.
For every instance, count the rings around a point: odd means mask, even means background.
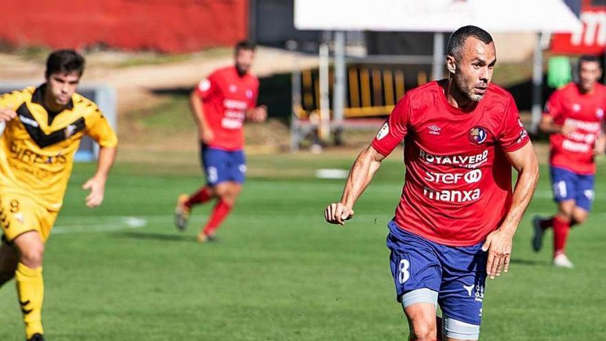
[[[373,179],[384,158],[385,156],[377,152],[372,145],[360,152],[351,166],[341,201],[328,205],[324,210],[326,222],[344,225],[345,220],[351,219],[353,204]]]

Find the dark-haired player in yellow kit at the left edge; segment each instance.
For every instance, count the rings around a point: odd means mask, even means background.
[[[81,138],[99,146],[96,173],[83,189],[88,207],[103,201],[116,158],[116,134],[92,101],[76,94],[84,59],[74,50],[48,56],[46,82],[0,96],[0,286],[15,278],[27,340],[44,340],[44,244],[63,204]]]

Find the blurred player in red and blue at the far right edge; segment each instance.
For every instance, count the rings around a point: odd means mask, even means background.
[[[572,268],[565,254],[568,231],[582,224],[594,200],[594,156],[605,148],[604,110],[606,86],[596,56],[578,60],[578,83],[556,90],[545,105],[539,130],[550,134],[550,170],[558,211],[551,218],[534,217],[532,248],[539,251],[543,232],[554,229],[554,265]]]

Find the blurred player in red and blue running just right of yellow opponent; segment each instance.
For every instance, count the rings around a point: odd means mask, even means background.
[[[244,120],[262,122],[267,118],[267,108],[256,106],[259,80],[249,72],[254,54],[255,46],[241,41],[236,45],[235,65],[211,73],[191,92],[207,185],[191,196],[178,197],[175,224],[184,230],[191,207],[217,198],[206,226],[198,234],[199,242],[215,240],[215,231],[242,190],[246,172]]]

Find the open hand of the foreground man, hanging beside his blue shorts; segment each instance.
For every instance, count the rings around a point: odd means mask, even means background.
[[[486,262],[486,273],[494,280],[494,276],[501,276],[501,271],[507,272],[513,244],[512,234],[497,229],[490,232],[486,237],[482,251],[488,251],[488,262]]]

